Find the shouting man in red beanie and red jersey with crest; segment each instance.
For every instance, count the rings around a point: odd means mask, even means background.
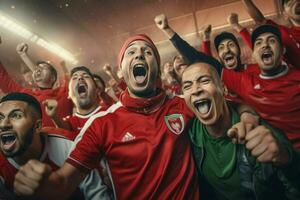
[[[49,175],[45,165],[27,163],[16,176],[17,193],[64,198],[104,156],[118,199],[198,199],[198,179],[185,131],[192,113],[183,99],[169,99],[160,89],[159,65],[151,39],[129,38],[119,54],[128,87],[120,102],[87,121],[67,162],[56,172]]]

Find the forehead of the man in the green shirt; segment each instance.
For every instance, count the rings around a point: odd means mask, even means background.
[[[195,63],[183,71],[182,81],[194,80],[198,76],[212,76],[212,69],[206,63]]]

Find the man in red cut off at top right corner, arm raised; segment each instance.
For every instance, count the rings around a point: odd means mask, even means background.
[[[281,6],[285,17],[290,21],[291,26],[282,26],[272,20],[266,19],[252,0],[242,0],[246,10],[253,20],[258,24],[272,24],[277,26],[281,32],[282,43],[286,48],[285,60],[294,67],[300,67],[300,1],[282,0]],[[242,33],[241,33],[242,34]],[[243,35],[243,34],[242,34]]]

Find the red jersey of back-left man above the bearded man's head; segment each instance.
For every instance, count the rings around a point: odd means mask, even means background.
[[[58,87],[55,89],[28,89],[21,87],[16,83],[6,72],[3,65],[0,63],[0,80],[1,80],[1,89],[5,93],[9,92],[23,92],[34,96],[41,104],[43,112],[43,126],[54,126],[52,120],[45,112],[44,106],[42,105],[43,101],[46,99],[55,99],[58,102],[57,115],[60,118],[63,118],[67,115],[72,114],[73,103],[68,99],[68,86],[67,83],[63,87]]]

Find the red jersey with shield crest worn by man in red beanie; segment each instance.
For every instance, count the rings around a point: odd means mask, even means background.
[[[139,112],[121,100],[91,117],[67,162],[92,169],[104,156],[118,199],[199,199],[185,129],[192,112],[180,97],[163,98],[147,114],[141,113],[142,105],[151,100],[132,99]]]

